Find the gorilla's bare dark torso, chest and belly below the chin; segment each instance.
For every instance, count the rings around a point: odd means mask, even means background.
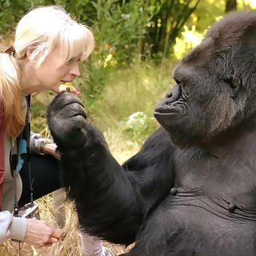
[[[146,239],[129,255],[256,255],[254,159],[180,153],[174,187],[148,218],[140,234]]]

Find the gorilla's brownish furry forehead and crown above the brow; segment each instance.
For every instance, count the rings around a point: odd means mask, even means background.
[[[249,40],[250,44],[246,43],[246,40]],[[174,68],[173,77],[178,77],[179,74],[186,77],[186,73],[192,74],[192,70],[197,67],[203,68],[207,63],[218,58],[222,59],[224,65],[224,62],[231,58],[232,52],[236,51],[239,54],[241,47],[243,47],[242,52],[245,47],[248,50],[256,49],[256,12],[254,11],[229,14],[216,22],[202,42],[186,54]],[[227,55],[230,58],[224,57]]]

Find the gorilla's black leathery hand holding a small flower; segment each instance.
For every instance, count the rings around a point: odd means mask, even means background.
[[[60,150],[86,143],[86,111],[81,100],[70,93],[58,94],[47,110],[47,122]]]

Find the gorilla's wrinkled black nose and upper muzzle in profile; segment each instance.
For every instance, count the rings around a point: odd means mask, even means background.
[[[166,112],[170,108],[170,104],[172,102],[176,102],[182,96],[182,87],[180,85],[176,85],[170,91],[170,94],[166,95],[166,98],[162,99],[161,102],[155,106],[156,112]]]

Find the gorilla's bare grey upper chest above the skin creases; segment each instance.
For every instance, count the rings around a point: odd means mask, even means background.
[[[237,213],[241,210],[256,219],[254,156],[228,154],[216,158],[198,151],[180,151],[175,159],[175,177],[179,192],[175,195],[209,198],[216,209]]]

